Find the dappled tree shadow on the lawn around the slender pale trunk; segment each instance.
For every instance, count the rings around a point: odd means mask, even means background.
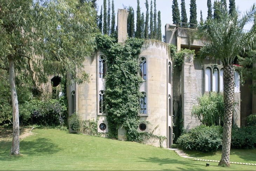
[[[58,144],[54,144],[49,138],[37,138],[33,141],[20,141],[20,156],[9,156],[12,142],[0,142],[0,160],[18,159],[22,156],[51,155],[61,150]]]

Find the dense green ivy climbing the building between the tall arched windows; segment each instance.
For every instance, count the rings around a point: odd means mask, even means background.
[[[124,43],[116,43],[106,35],[97,35],[97,48],[107,56],[106,109],[108,111],[108,136],[117,138],[118,129],[126,129],[128,141],[143,141],[137,130],[139,124],[139,91],[142,78],[139,76],[138,58],[142,39],[131,38]]]

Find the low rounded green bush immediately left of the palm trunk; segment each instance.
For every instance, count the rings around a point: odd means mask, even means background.
[[[186,150],[216,151],[222,145],[222,132],[221,126],[199,125],[181,135],[177,143]]]

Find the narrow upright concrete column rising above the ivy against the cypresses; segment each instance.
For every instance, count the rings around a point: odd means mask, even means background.
[[[128,12],[126,9],[118,9],[117,12],[117,41],[119,43],[127,39],[127,17]]]

